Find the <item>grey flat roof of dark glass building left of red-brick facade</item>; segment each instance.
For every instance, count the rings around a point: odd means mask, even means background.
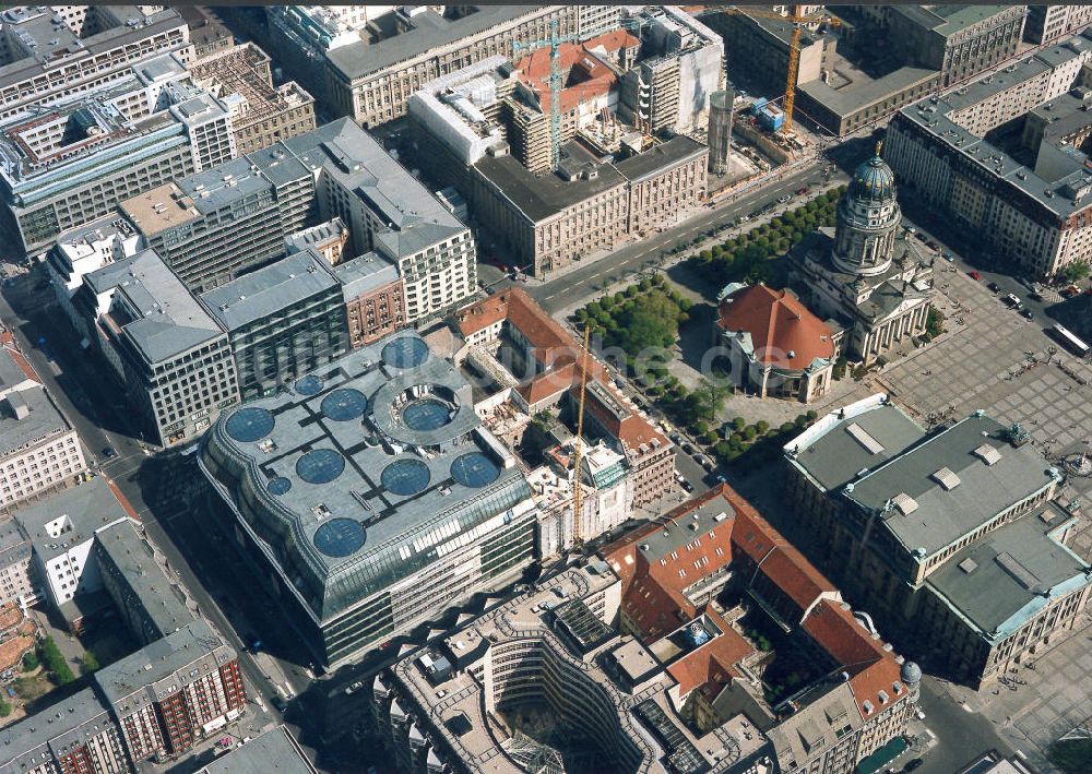
[[[329,262],[305,250],[219,285],[202,294],[201,301],[232,333],[339,287]]]

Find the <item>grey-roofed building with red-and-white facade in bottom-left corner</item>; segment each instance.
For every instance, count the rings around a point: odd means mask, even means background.
[[[129,774],[121,729],[93,688],[0,730],[0,767],[19,774]]]

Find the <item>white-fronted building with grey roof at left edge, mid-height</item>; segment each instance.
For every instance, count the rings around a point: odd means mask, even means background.
[[[70,485],[87,469],[75,429],[40,386],[0,402],[0,505]]]

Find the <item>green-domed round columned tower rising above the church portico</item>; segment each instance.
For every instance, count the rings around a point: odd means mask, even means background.
[[[894,172],[876,155],[857,167],[838,205],[834,263],[854,274],[882,274],[891,265],[902,211],[895,200]]]

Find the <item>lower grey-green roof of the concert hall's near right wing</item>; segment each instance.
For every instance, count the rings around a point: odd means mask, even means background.
[[[1053,599],[1092,583],[1092,565],[1048,534],[1071,519],[1040,513],[972,543],[929,575],[933,593],[987,640],[1011,634]]]

